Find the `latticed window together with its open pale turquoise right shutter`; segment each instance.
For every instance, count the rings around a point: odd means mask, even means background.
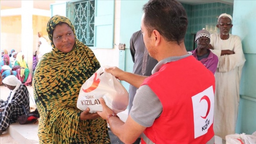
[[[114,0],[72,0],[67,17],[77,38],[90,48],[113,48]]]

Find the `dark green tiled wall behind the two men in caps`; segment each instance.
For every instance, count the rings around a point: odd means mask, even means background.
[[[216,27],[220,14],[227,13],[233,15],[233,5],[223,3],[210,3],[201,5],[182,4],[187,11],[188,27],[185,36],[185,46],[187,51],[193,50],[194,36],[197,31],[205,28],[210,33],[218,32]],[[230,31],[231,33],[231,31]],[[196,46],[195,46],[196,47]]]

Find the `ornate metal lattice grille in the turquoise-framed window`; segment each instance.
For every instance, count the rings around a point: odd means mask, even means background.
[[[93,47],[95,0],[74,3],[74,9],[74,27],[77,38],[88,47]]]

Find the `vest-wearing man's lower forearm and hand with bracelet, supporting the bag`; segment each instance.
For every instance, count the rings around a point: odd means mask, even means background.
[[[97,112],[103,119],[107,119],[107,117],[114,112],[107,107],[105,101],[100,98],[99,99],[103,108],[102,112]],[[111,131],[125,144],[132,144],[138,139],[139,135],[143,133],[146,127],[136,123],[132,117],[129,115],[126,122],[124,123],[118,117],[109,117],[108,123],[111,128]]]

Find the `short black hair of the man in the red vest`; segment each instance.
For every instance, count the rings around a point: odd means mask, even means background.
[[[187,14],[176,0],[149,0],[143,7],[144,25],[149,34],[157,30],[166,41],[180,42],[187,31]]]

